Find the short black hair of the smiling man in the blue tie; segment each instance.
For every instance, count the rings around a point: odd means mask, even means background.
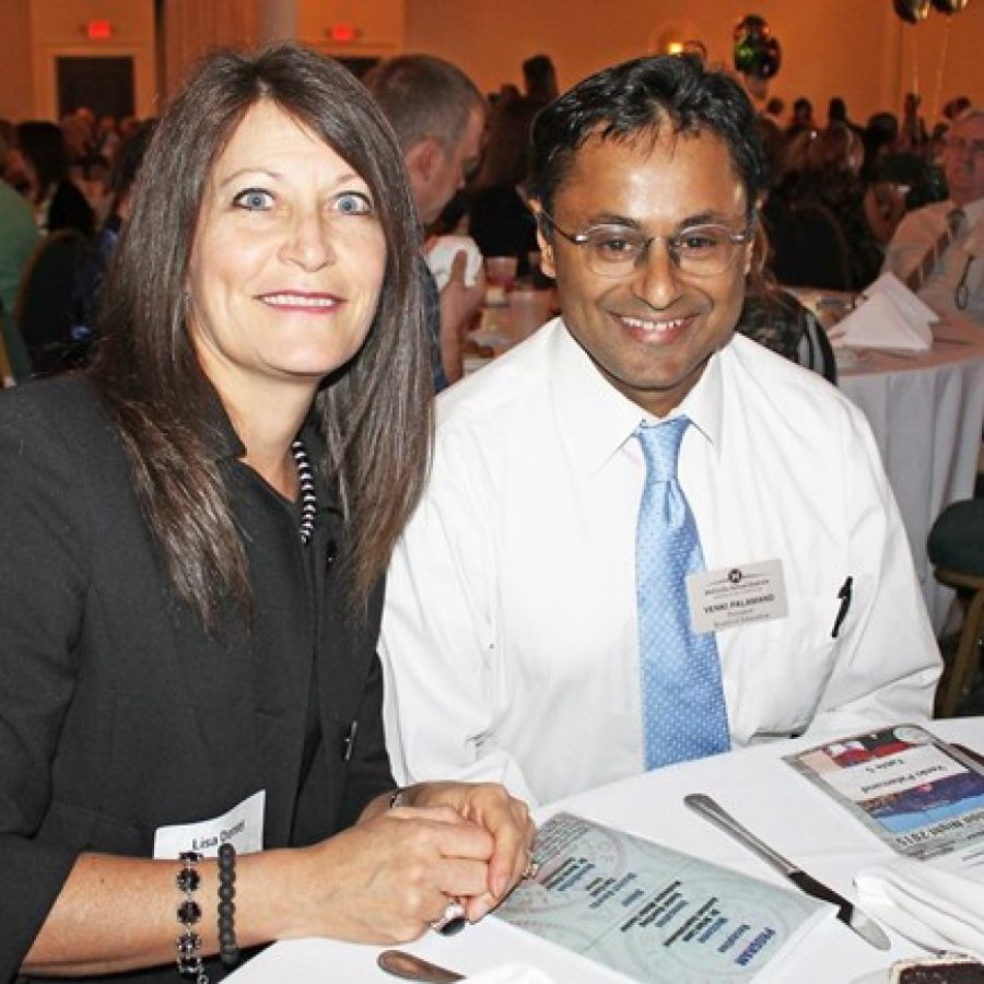
[[[713,133],[728,148],[747,195],[749,216],[765,187],[766,165],[757,114],[741,85],[688,55],[637,58],[578,82],[537,116],[532,129],[531,192],[549,212],[574,155],[602,140]]]

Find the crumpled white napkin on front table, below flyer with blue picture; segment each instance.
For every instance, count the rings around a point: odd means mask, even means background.
[[[899,857],[854,879],[858,904],[923,947],[984,961],[984,882]]]

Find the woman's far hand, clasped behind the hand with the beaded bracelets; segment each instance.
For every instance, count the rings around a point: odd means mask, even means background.
[[[509,796],[504,786],[424,783],[407,789],[405,801],[412,806],[452,807],[462,819],[475,822],[493,837],[494,850],[489,858],[489,880],[484,890],[458,893],[472,923],[499,905],[529,866],[536,827],[529,819],[526,804]]]

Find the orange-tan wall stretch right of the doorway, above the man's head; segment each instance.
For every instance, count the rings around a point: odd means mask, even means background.
[[[483,90],[520,81],[520,62],[546,51],[567,86],[606,65],[646,54],[666,34],[695,37],[731,65],[733,31],[761,14],[783,48],[770,94],[806,95],[825,118],[842,95],[853,117],[901,109],[915,78],[926,115],[952,95],[984,102],[984,0],[948,19],[904,24],[891,0],[406,0],[407,47],[449,58]],[[917,56],[914,59],[914,54]],[[942,68],[942,72],[940,69]]]

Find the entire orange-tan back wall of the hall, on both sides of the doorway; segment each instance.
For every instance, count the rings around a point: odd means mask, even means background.
[[[150,0],[0,0],[0,17],[10,37],[31,37],[30,10],[38,2],[58,10],[59,22],[74,24],[75,30],[89,17],[132,20],[133,9],[150,4]],[[298,21],[313,4],[313,0],[165,0],[165,17],[179,36],[169,39],[164,74],[173,81],[202,46],[251,40],[257,11],[277,2],[296,3]],[[343,14],[354,0],[332,2]],[[862,122],[877,109],[899,112],[902,93],[913,87],[923,93],[930,122],[953,95],[984,103],[980,55],[984,0],[972,0],[953,17],[933,13],[916,26],[894,14],[891,0],[402,2],[406,48],[457,62],[490,92],[502,82],[518,83],[520,62],[538,51],[553,57],[561,85],[567,86],[606,65],[656,50],[669,35],[700,38],[712,60],[730,66],[735,24],[754,11],[769,21],[783,47],[783,67],[771,83],[771,94],[787,103],[807,95],[821,121],[831,95],[846,98],[853,117]],[[386,22],[396,24],[400,14],[394,10],[399,3],[360,0],[366,8],[385,8]],[[34,71],[28,45],[4,46],[0,116],[23,119],[44,109],[46,95],[35,91]]]

